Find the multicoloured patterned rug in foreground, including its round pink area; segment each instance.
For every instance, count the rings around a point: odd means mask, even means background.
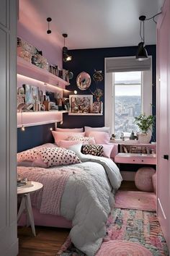
[[[118,242],[120,242],[121,247]],[[121,249],[118,250],[117,248]],[[58,255],[85,256],[83,252],[73,246],[69,237],[56,256]],[[156,213],[115,208],[108,218],[107,234],[96,256],[118,255],[169,256],[169,250]]]

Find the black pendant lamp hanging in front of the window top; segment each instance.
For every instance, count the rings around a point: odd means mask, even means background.
[[[145,26],[144,26],[144,21],[146,20],[146,16],[142,15],[139,17],[140,20],[140,38],[141,42],[138,44],[138,51],[135,56],[135,58],[138,61],[143,61],[148,58],[148,53],[146,51],[145,47]],[[142,30],[142,23],[143,23],[143,35],[141,35],[141,30]]]

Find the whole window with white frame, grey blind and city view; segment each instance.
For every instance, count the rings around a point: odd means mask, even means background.
[[[117,138],[121,132],[135,132],[134,117],[152,114],[152,57],[105,58],[104,78],[104,125]]]

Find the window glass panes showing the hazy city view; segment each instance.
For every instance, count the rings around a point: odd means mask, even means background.
[[[135,116],[141,114],[142,72],[115,72],[115,135],[137,132]]]

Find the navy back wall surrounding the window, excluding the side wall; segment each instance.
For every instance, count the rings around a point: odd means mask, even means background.
[[[146,46],[148,55],[152,56],[153,67],[153,115],[156,114],[156,46]],[[71,70],[74,74],[73,79],[70,81],[71,85],[68,86],[68,90],[77,90],[78,94],[91,94],[89,90],[79,90],[76,86],[77,75],[84,71],[88,72],[91,77],[94,74],[94,69],[102,70],[104,75],[104,58],[107,57],[119,57],[119,56],[135,56],[137,46],[130,47],[117,47],[117,48],[95,48],[95,49],[81,49],[71,50],[69,54],[72,56],[72,60],[63,64],[63,67]],[[95,82],[91,79],[90,90],[94,92],[96,88]],[[98,88],[104,90],[104,80],[98,83]],[[67,95],[66,95],[67,96]],[[101,98],[104,102],[104,96]],[[107,102],[104,102],[104,105]],[[63,116],[62,127],[102,127],[104,126],[104,114],[103,116]]]

